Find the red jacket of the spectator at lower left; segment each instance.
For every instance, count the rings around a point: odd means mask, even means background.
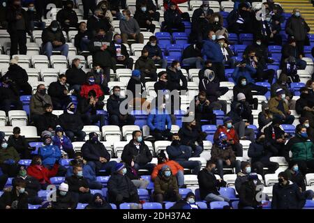
[[[29,168],[27,168],[27,175],[33,176],[34,178],[39,180],[39,183],[49,183],[50,178],[57,175],[59,168],[59,164],[54,164],[54,167],[52,169],[47,169],[44,166],[38,166],[38,165],[31,165]]]

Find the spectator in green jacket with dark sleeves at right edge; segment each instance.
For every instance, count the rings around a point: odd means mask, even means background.
[[[295,137],[287,142],[287,150],[292,151],[291,160],[296,161],[301,173],[306,176],[307,169],[310,173],[314,171],[314,144],[308,139],[306,127],[297,125],[295,129]]]

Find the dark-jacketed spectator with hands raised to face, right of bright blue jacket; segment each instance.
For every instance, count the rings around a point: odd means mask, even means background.
[[[190,102],[190,107],[192,107],[192,105],[195,107],[195,121],[197,125],[204,125],[204,123],[216,125],[216,114],[213,113],[211,102],[206,98],[204,91],[200,91],[200,93],[195,96],[194,100]]]

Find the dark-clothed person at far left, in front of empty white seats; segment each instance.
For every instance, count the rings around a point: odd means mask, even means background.
[[[13,147],[19,153],[22,160],[31,158],[31,151],[34,149],[29,146],[24,136],[20,135],[21,129],[19,127],[13,128],[13,135],[8,138],[8,147]]]

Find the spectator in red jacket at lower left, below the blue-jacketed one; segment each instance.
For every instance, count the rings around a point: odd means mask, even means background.
[[[33,160],[31,160],[31,165],[27,168],[27,175],[36,178],[40,183],[41,190],[46,190],[47,185],[52,184],[50,178],[57,176],[58,169],[59,163],[54,163],[52,169],[47,169],[43,166],[41,157],[35,155]]]

